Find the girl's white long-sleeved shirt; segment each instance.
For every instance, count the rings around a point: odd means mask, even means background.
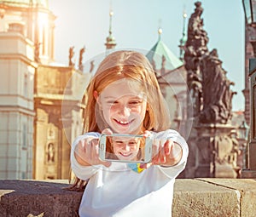
[[[177,131],[168,129],[154,133],[154,138],[171,139],[183,149],[183,157],[173,167],[151,166],[137,173],[127,163],[81,166],[74,157],[74,148],[84,138],[99,138],[99,133],[79,136],[73,142],[71,165],[74,174],[88,180],[79,207],[81,217],[170,217],[174,180],[183,171],[189,154],[186,141]]]

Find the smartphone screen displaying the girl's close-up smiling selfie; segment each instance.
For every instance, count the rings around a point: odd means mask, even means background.
[[[113,136],[106,138],[106,160],[144,162],[146,140],[143,136]]]

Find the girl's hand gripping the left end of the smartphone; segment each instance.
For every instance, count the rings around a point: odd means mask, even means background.
[[[95,138],[86,138],[80,140],[75,147],[74,155],[79,164],[83,166],[102,164],[106,167],[111,165],[110,162],[103,162],[99,157],[99,140]]]

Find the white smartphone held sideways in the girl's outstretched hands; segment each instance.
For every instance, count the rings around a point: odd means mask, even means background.
[[[102,134],[99,156],[102,161],[149,163],[152,158],[152,140],[135,134]]]

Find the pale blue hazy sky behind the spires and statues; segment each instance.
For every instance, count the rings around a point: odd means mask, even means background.
[[[75,58],[85,46],[84,62],[106,50],[109,10],[113,10],[112,31],[116,49],[150,50],[161,39],[179,56],[183,33],[183,11],[189,17],[195,10],[192,0],[49,0],[55,14],[55,61],[68,65],[68,50],[74,46]],[[244,12],[241,0],[201,0],[201,18],[207,31],[209,50],[217,49],[227,77],[235,83],[231,89],[233,111],[244,110]]]

